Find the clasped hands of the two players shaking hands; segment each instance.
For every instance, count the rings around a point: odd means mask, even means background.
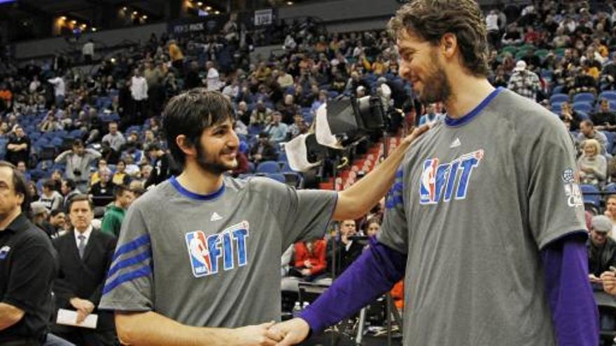
[[[307,338],[310,326],[300,318],[276,324],[267,322],[255,326],[233,329],[231,345],[290,346]]]

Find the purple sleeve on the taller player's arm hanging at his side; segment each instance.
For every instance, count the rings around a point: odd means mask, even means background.
[[[569,234],[541,250],[545,291],[559,346],[596,346],[599,342],[598,310],[588,280],[586,238],[582,233]]]

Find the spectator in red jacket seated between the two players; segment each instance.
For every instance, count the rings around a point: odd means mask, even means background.
[[[295,243],[295,264],[289,275],[300,277],[302,281],[312,282],[323,277],[327,268],[325,255],[327,243],[323,239]]]

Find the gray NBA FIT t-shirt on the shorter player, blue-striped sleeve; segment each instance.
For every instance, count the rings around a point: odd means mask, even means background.
[[[278,321],[281,254],[323,237],[336,200],[268,178],[225,178],[207,196],[167,180],[128,210],[100,308],[190,326]]]

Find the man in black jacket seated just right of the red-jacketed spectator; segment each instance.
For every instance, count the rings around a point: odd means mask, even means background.
[[[358,236],[355,220],[343,220],[340,222],[340,238],[332,240],[336,242],[336,275],[342,274],[363,251],[365,244],[350,237]],[[330,243],[332,243],[330,241]],[[328,264],[332,263],[333,247],[328,244]]]

